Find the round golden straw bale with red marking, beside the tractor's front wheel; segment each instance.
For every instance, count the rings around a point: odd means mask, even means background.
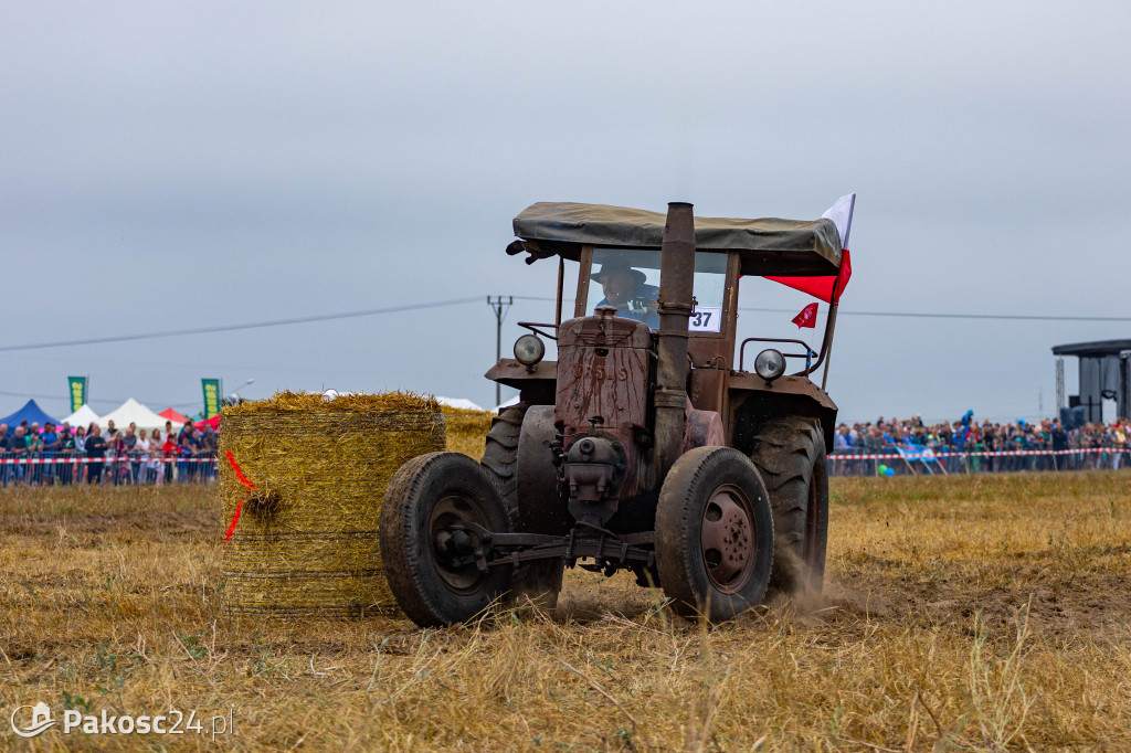
[[[282,392],[225,408],[223,426],[225,527],[240,509],[224,551],[228,607],[282,616],[396,611],[381,573],[381,497],[404,462],[444,448],[435,400]]]

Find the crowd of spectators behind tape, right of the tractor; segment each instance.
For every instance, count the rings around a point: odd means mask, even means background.
[[[958,464],[970,470],[1119,468],[1121,464],[1131,465],[1131,458],[1126,457],[1131,455],[1129,440],[1131,421],[1126,418],[1064,429],[1056,418],[979,423],[974,412],[967,410],[957,421],[931,425],[920,416],[909,419],[881,416],[874,423],[841,423],[834,438],[834,456],[843,457],[841,464],[852,464],[852,456],[895,455],[900,461],[907,459],[906,467],[912,470],[915,466],[910,462],[922,464],[920,467],[929,470],[932,462],[941,469],[951,469]],[[1016,451],[1042,455],[990,455]],[[857,461],[847,467],[865,466]]]

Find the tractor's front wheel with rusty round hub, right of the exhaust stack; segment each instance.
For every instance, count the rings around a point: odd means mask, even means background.
[[[675,611],[722,622],[757,606],[772,555],[769,495],[750,459],[727,447],[683,453],[656,507],[656,569]]]

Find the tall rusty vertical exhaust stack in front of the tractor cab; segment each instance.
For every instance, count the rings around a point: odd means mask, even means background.
[[[688,404],[688,319],[696,269],[692,206],[667,205],[659,260],[659,344],[656,369],[656,469],[667,474],[683,449]]]

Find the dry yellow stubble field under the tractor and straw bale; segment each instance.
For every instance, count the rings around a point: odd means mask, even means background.
[[[234,708],[236,750],[1126,748],[1129,486],[835,479],[823,597],[707,630],[624,575],[570,572],[556,614],[425,632],[226,618],[213,492],[8,491],[0,747],[32,750],[7,716],[43,700]]]

